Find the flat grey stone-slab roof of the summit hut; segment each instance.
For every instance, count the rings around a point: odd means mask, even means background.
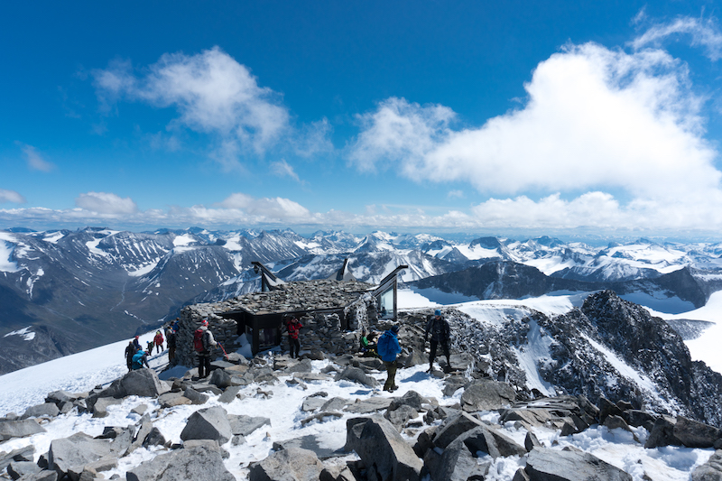
[[[256,315],[342,309],[374,288],[366,282],[329,279],[288,282],[279,285],[277,290],[244,294],[225,304],[228,310],[245,310]]]

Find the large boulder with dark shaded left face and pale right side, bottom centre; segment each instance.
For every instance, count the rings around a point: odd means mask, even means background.
[[[346,449],[366,465],[369,481],[418,481],[423,463],[393,424],[380,416],[347,421]]]

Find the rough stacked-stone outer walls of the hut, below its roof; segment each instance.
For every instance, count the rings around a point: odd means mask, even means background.
[[[193,334],[200,327],[203,319],[208,319],[208,329],[228,353],[236,351],[240,347],[237,342],[236,321],[221,318],[216,314],[236,309],[238,309],[236,300],[195,304],[183,308],[180,311],[180,328],[176,347],[177,364],[188,366],[198,364],[198,358],[193,350]],[[361,297],[347,306],[344,315],[347,319],[348,331],[341,329],[341,319],[335,313],[314,313],[302,317],[300,320],[303,329],[299,336],[301,350],[333,354],[356,352],[359,339],[356,331],[360,331],[362,328],[368,330],[369,325],[375,323],[374,298],[371,295]],[[282,334],[281,347],[284,351],[289,349],[288,336],[285,332]]]

